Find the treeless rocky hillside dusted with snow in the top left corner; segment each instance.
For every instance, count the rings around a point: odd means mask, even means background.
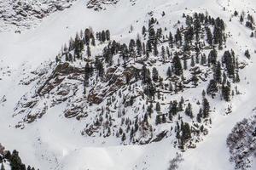
[[[1,0],[0,31],[20,33],[37,26],[40,20],[56,11],[70,8],[75,0]]]

